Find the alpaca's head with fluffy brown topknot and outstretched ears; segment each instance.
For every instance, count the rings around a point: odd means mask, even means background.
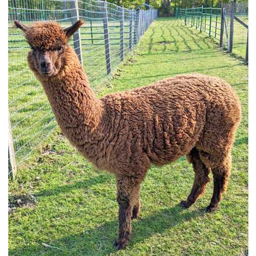
[[[35,22],[31,26],[14,21],[15,27],[23,30],[31,46],[28,62],[31,70],[42,77],[52,77],[65,66],[65,51],[69,38],[83,22],[77,20],[71,27],[62,29],[55,22]]]

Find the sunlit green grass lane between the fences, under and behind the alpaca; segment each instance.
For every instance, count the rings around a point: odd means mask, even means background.
[[[180,20],[158,18],[98,95],[195,72],[225,79],[242,102],[232,173],[217,211],[204,212],[212,181],[195,205],[179,206],[194,180],[185,157],[152,166],[142,184],[141,215],[132,221],[130,244],[116,251],[114,176],[86,162],[56,129],[19,165],[16,182],[9,184],[9,203],[16,207],[9,216],[9,255],[247,255],[248,67]]]

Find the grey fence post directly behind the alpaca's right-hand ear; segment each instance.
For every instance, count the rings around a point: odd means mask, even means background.
[[[73,25],[79,19],[77,0],[71,0],[70,7],[71,7],[71,23]],[[82,65],[82,44],[81,44],[80,29],[78,29],[73,34],[73,39],[74,39],[75,52],[76,52],[76,54],[79,58],[79,61],[80,61],[81,65]]]

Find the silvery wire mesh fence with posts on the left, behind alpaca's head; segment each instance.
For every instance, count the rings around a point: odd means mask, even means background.
[[[94,0],[9,0],[8,5],[8,175],[57,126],[40,83],[30,71],[30,50],[24,35],[14,29],[13,20],[56,21],[63,28],[77,19],[85,24],[74,34],[74,47],[93,89],[98,90],[115,72],[125,55],[137,46],[140,37],[157,17],[157,10],[126,9]],[[13,162],[14,160],[14,162]]]

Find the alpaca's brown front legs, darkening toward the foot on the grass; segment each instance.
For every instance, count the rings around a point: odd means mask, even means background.
[[[117,202],[119,204],[119,230],[117,240],[114,242],[116,248],[123,249],[130,241],[132,225],[131,218],[133,209],[138,209],[138,198],[140,183],[136,178],[117,178]],[[136,215],[138,210],[136,211]]]

